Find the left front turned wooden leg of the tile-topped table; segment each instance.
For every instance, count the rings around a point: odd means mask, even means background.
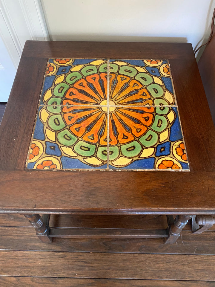
[[[43,221],[39,214],[24,214],[30,224],[35,228],[36,235],[44,243],[51,243],[52,238],[49,237],[50,227],[48,226],[48,221],[50,216],[45,216],[46,223]]]

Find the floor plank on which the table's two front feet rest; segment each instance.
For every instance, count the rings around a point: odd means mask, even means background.
[[[183,231],[174,244],[157,239],[60,239],[52,244],[42,243],[31,227],[0,227],[0,250],[81,251],[157,254],[210,254],[215,255],[214,232],[192,234]]]

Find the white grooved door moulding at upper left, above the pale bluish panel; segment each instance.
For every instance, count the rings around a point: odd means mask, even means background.
[[[0,0],[0,36],[17,69],[26,40],[49,40],[40,0]]]

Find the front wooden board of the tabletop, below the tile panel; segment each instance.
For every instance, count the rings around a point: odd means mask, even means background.
[[[215,213],[214,172],[108,174],[0,171],[0,213]]]

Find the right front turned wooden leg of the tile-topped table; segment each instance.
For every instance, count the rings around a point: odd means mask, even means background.
[[[166,243],[174,243],[180,236],[180,232],[191,219],[192,215],[180,214],[177,215],[174,222],[168,226],[169,236]]]

